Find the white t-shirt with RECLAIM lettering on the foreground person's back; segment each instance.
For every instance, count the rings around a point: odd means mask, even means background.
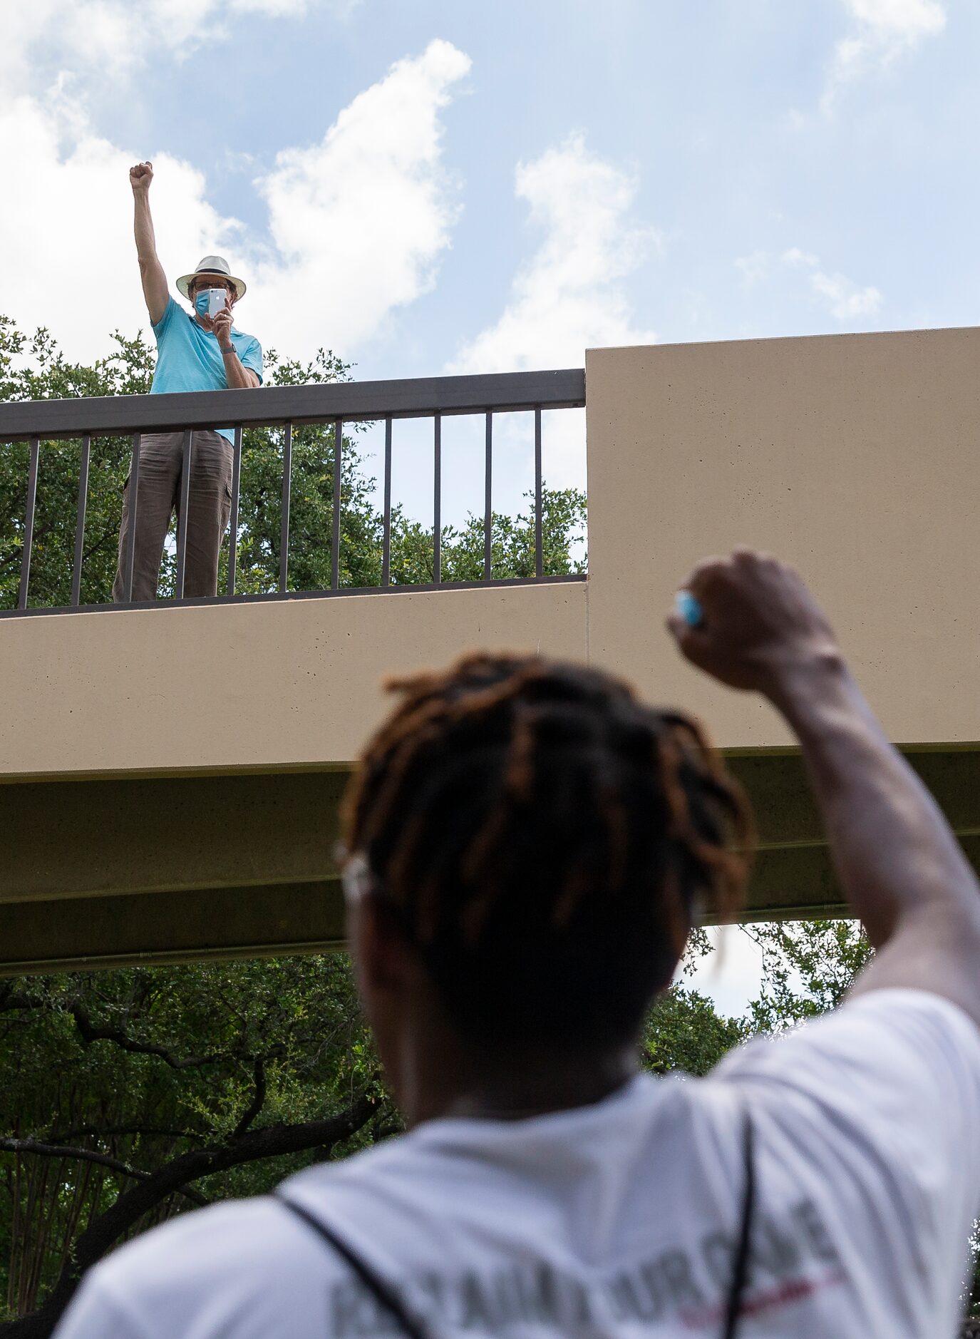
[[[525,1121],[430,1121],[285,1193],[439,1339],[722,1330],[751,1110],[758,1206],[739,1335],[952,1339],[980,1210],[980,1030],[869,992],[728,1055]],[[56,1339],[356,1339],[398,1327],[264,1197],[190,1212],[86,1279]]]

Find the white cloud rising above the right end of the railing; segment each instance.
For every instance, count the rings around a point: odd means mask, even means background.
[[[629,220],[633,178],[572,135],[518,165],[515,194],[544,241],[514,279],[499,319],[450,370],[577,367],[586,347],[653,343],[655,332],[635,324],[623,285],[659,244],[652,228]]]

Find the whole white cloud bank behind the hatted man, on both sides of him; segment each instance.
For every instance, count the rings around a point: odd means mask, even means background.
[[[442,167],[442,112],[470,59],[447,42],[399,60],[312,147],[281,153],[256,182],[268,237],[208,202],[203,175],[154,157],[157,249],[173,280],[209,252],[249,284],[244,329],[295,356],[352,353],[388,313],[434,283],[458,205]],[[104,353],[108,332],[147,328],[133,242],[129,167],[141,154],[92,133],[78,96],[0,102],[0,309],[47,324],[71,358]]]

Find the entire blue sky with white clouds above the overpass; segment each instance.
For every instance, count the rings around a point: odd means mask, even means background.
[[[32,0],[3,36],[0,312],[72,356],[146,325],[147,157],[171,279],[225,253],[242,328],[359,378],[976,316],[971,0]]]

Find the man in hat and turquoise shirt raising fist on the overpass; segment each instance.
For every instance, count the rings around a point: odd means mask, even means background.
[[[262,380],[262,349],[257,339],[234,329],[233,308],[245,293],[221,256],[205,256],[195,270],[177,280],[191,311],[178,307],[157,256],[150,213],[153,163],[130,169],[134,232],[146,309],[157,339],[153,394],[174,391],[246,390]],[[218,550],[232,510],[233,434],[229,428],[197,431],[190,451],[187,558],[183,593],[213,596],[218,588]],[[133,600],[154,600],[170,517],[181,511],[183,432],[147,432],[139,443]],[[129,478],[119,528],[119,566],[112,585],[116,604],[126,600],[123,577],[130,536]]]

